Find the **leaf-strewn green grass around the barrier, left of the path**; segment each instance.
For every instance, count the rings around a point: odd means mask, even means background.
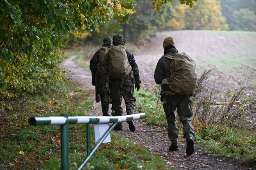
[[[69,84],[67,93],[45,92],[28,96],[22,109],[15,109],[15,101],[6,102],[6,112],[0,125],[0,169],[59,170],[61,166],[60,126],[30,126],[31,116],[85,116],[93,102],[88,101],[88,92]],[[20,103],[22,104],[22,103]],[[6,108],[7,109],[7,108]],[[5,109],[5,110],[6,110]],[[1,109],[2,110],[2,109]],[[77,169],[87,156],[86,125],[69,125],[69,168]],[[95,145],[91,125],[91,148]],[[153,155],[140,145],[135,145],[122,136],[111,132],[111,143],[101,144],[84,170],[171,170],[160,156]]]

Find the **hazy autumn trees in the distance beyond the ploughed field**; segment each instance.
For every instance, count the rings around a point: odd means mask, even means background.
[[[159,11],[148,0],[129,2],[133,5],[128,8],[136,10],[129,20],[120,23],[113,19],[104,23],[88,40],[101,42],[104,36],[123,34],[130,42],[145,45],[156,30],[256,31],[255,0],[198,0],[193,2],[193,8],[173,1],[161,4]]]

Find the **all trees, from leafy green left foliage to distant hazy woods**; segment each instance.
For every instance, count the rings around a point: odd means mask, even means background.
[[[163,30],[256,31],[255,13],[254,0],[1,0],[2,108],[6,100],[45,88],[63,90],[66,45],[99,44],[105,36],[123,34],[127,42],[145,46]]]

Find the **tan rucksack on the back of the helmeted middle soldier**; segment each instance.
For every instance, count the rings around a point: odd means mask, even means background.
[[[123,45],[109,49],[109,72],[112,78],[124,78],[131,72],[131,65]]]

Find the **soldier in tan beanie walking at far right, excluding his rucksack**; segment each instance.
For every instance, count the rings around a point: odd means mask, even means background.
[[[163,41],[164,54],[170,54],[176,56],[178,50],[175,48],[174,39],[171,37],[165,38]],[[156,84],[161,84],[161,99],[163,101],[163,108],[165,111],[167,123],[168,123],[168,137],[171,140],[169,147],[170,151],[179,150],[178,136],[179,129],[176,124],[176,112],[179,116],[179,120],[183,125],[183,134],[186,138],[187,147],[186,154],[191,155],[194,152],[194,128],[190,117],[193,116],[192,101],[190,95],[178,95],[170,90],[170,86],[165,84],[165,78],[170,77],[170,63],[171,59],[161,57],[156,65],[154,72],[154,79]]]

